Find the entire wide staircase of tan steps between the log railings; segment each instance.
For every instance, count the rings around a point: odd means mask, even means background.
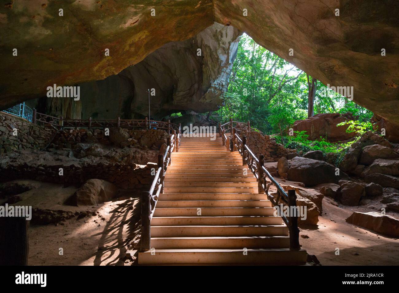
[[[239,152],[222,139],[181,138],[164,179],[139,264],[302,265],[288,228]]]

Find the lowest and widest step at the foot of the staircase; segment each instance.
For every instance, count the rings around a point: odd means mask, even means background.
[[[304,265],[305,250],[287,248],[248,249],[159,249],[140,252],[138,264],[247,264],[247,265]]]

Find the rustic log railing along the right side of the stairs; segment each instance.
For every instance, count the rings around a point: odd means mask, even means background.
[[[230,132],[229,136],[226,136],[227,130]],[[290,250],[299,250],[298,214],[292,214],[293,210],[297,210],[295,190],[288,190],[288,193],[286,193],[284,189],[282,189],[279,183],[265,168],[263,155],[256,157],[247,146],[247,137],[245,135],[242,136],[242,138],[239,136],[239,133],[243,131],[251,131],[249,121],[247,123],[241,123],[230,119],[230,121],[225,124],[219,123],[219,136],[222,138],[223,146],[226,146],[227,151],[238,151],[240,153],[243,158],[243,165],[247,165],[257,179],[258,193],[266,193],[272,205],[277,206],[277,208],[279,208],[280,203],[288,206],[290,216],[282,214],[282,210],[280,210],[280,216],[290,232]],[[274,185],[277,189],[275,195],[269,194],[271,185]]]

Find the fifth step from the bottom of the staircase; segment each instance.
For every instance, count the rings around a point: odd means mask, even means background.
[[[275,209],[271,207],[257,208],[158,208],[154,217],[168,216],[273,216]],[[198,214],[201,212],[201,214]]]

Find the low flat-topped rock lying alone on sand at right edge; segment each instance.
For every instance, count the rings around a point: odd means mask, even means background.
[[[398,237],[399,220],[379,212],[354,212],[346,222],[373,230],[377,233]]]

